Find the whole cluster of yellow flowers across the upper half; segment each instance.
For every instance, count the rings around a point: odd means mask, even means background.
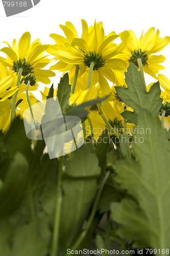
[[[154,55],[168,45],[169,36],[159,37],[159,30],[155,32],[155,28],[150,28],[144,35],[142,33],[139,39],[132,30],[119,34],[112,31],[109,35],[105,35],[102,22],[94,22],[94,26],[88,27],[84,19],[82,19],[81,37],[70,22],[60,27],[65,37],[51,34],[51,38],[55,40],[54,45],[41,45],[39,39],[31,44],[29,32],[21,36],[18,45],[15,39],[12,47],[5,42],[8,47],[1,49],[1,52],[7,57],[0,57],[0,129],[6,131],[10,125],[14,95],[15,103],[19,102],[16,108],[17,115],[22,115],[28,108],[26,85],[21,78],[30,73],[36,78],[35,86],[31,87],[34,91],[38,89],[37,82],[50,83],[49,77],[55,76],[52,70],[69,72],[69,83],[72,86],[70,104],[80,104],[109,95],[100,107],[94,105],[88,109],[89,118],[85,121],[86,135],[90,134],[87,127],[88,122],[91,122],[96,131],[94,139],[98,139],[101,131],[106,127],[106,122],[99,113],[105,116],[110,125],[117,126],[118,129],[123,125],[124,120],[120,113],[124,110],[124,104],[116,96],[114,86],[126,87],[125,72],[130,62],[159,80],[164,89],[162,92],[164,101],[170,101],[170,81],[158,74],[159,70],[164,69],[160,63],[165,57]],[[119,40],[119,43],[116,43],[116,40]],[[50,54],[51,58],[48,57],[49,55],[44,56],[44,52]],[[50,67],[50,70],[44,70],[52,61],[57,62]],[[42,93],[43,99],[47,94],[48,89],[45,88]],[[31,104],[38,101],[31,92],[30,101]]]

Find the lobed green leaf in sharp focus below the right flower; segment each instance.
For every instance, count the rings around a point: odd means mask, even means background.
[[[162,99],[160,98],[159,81],[154,83],[149,92],[145,91],[145,85],[141,78],[141,74],[133,63],[130,63],[128,72],[125,72],[126,83],[128,88],[115,87],[117,95],[128,106],[130,106],[135,114],[129,116],[129,112],[124,115],[129,122],[135,122],[136,114],[138,115],[141,109],[151,111],[153,116],[160,114]],[[132,116],[133,115],[133,116]]]

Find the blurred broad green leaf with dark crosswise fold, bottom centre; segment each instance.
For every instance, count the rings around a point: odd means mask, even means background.
[[[101,173],[98,158],[86,146],[72,154],[66,163],[67,176],[63,181],[60,243],[65,247],[70,246],[85,221]]]

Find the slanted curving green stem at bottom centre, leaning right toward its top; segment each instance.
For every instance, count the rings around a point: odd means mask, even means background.
[[[110,172],[108,171],[106,173],[104,179],[102,180],[101,185],[99,186],[98,192],[97,192],[95,200],[94,200],[94,204],[93,204],[93,207],[92,207],[92,211],[91,211],[90,217],[89,217],[89,219],[87,221],[87,225],[86,225],[85,229],[83,230],[83,232],[81,233],[81,235],[78,238],[78,240],[76,241],[76,243],[72,246],[71,250],[75,251],[81,245],[81,243],[83,242],[84,238],[86,237],[86,234],[87,234],[87,232],[88,232],[88,230],[89,230],[89,228],[91,226],[91,223],[92,223],[92,221],[94,219],[95,212],[96,212],[96,209],[98,207],[98,203],[99,203],[99,199],[100,199],[103,187],[104,187],[104,185],[105,185],[109,175],[110,175]]]

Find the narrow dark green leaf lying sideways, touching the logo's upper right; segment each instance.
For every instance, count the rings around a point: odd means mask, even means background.
[[[72,108],[72,109],[69,109],[65,115],[66,116],[78,116],[80,118],[83,118],[86,115],[88,115],[88,111],[85,109],[85,108],[87,108],[87,106],[95,105],[97,103],[102,102],[103,100],[106,100],[107,98],[108,98],[108,96],[83,102],[82,104],[74,106],[74,108]]]

